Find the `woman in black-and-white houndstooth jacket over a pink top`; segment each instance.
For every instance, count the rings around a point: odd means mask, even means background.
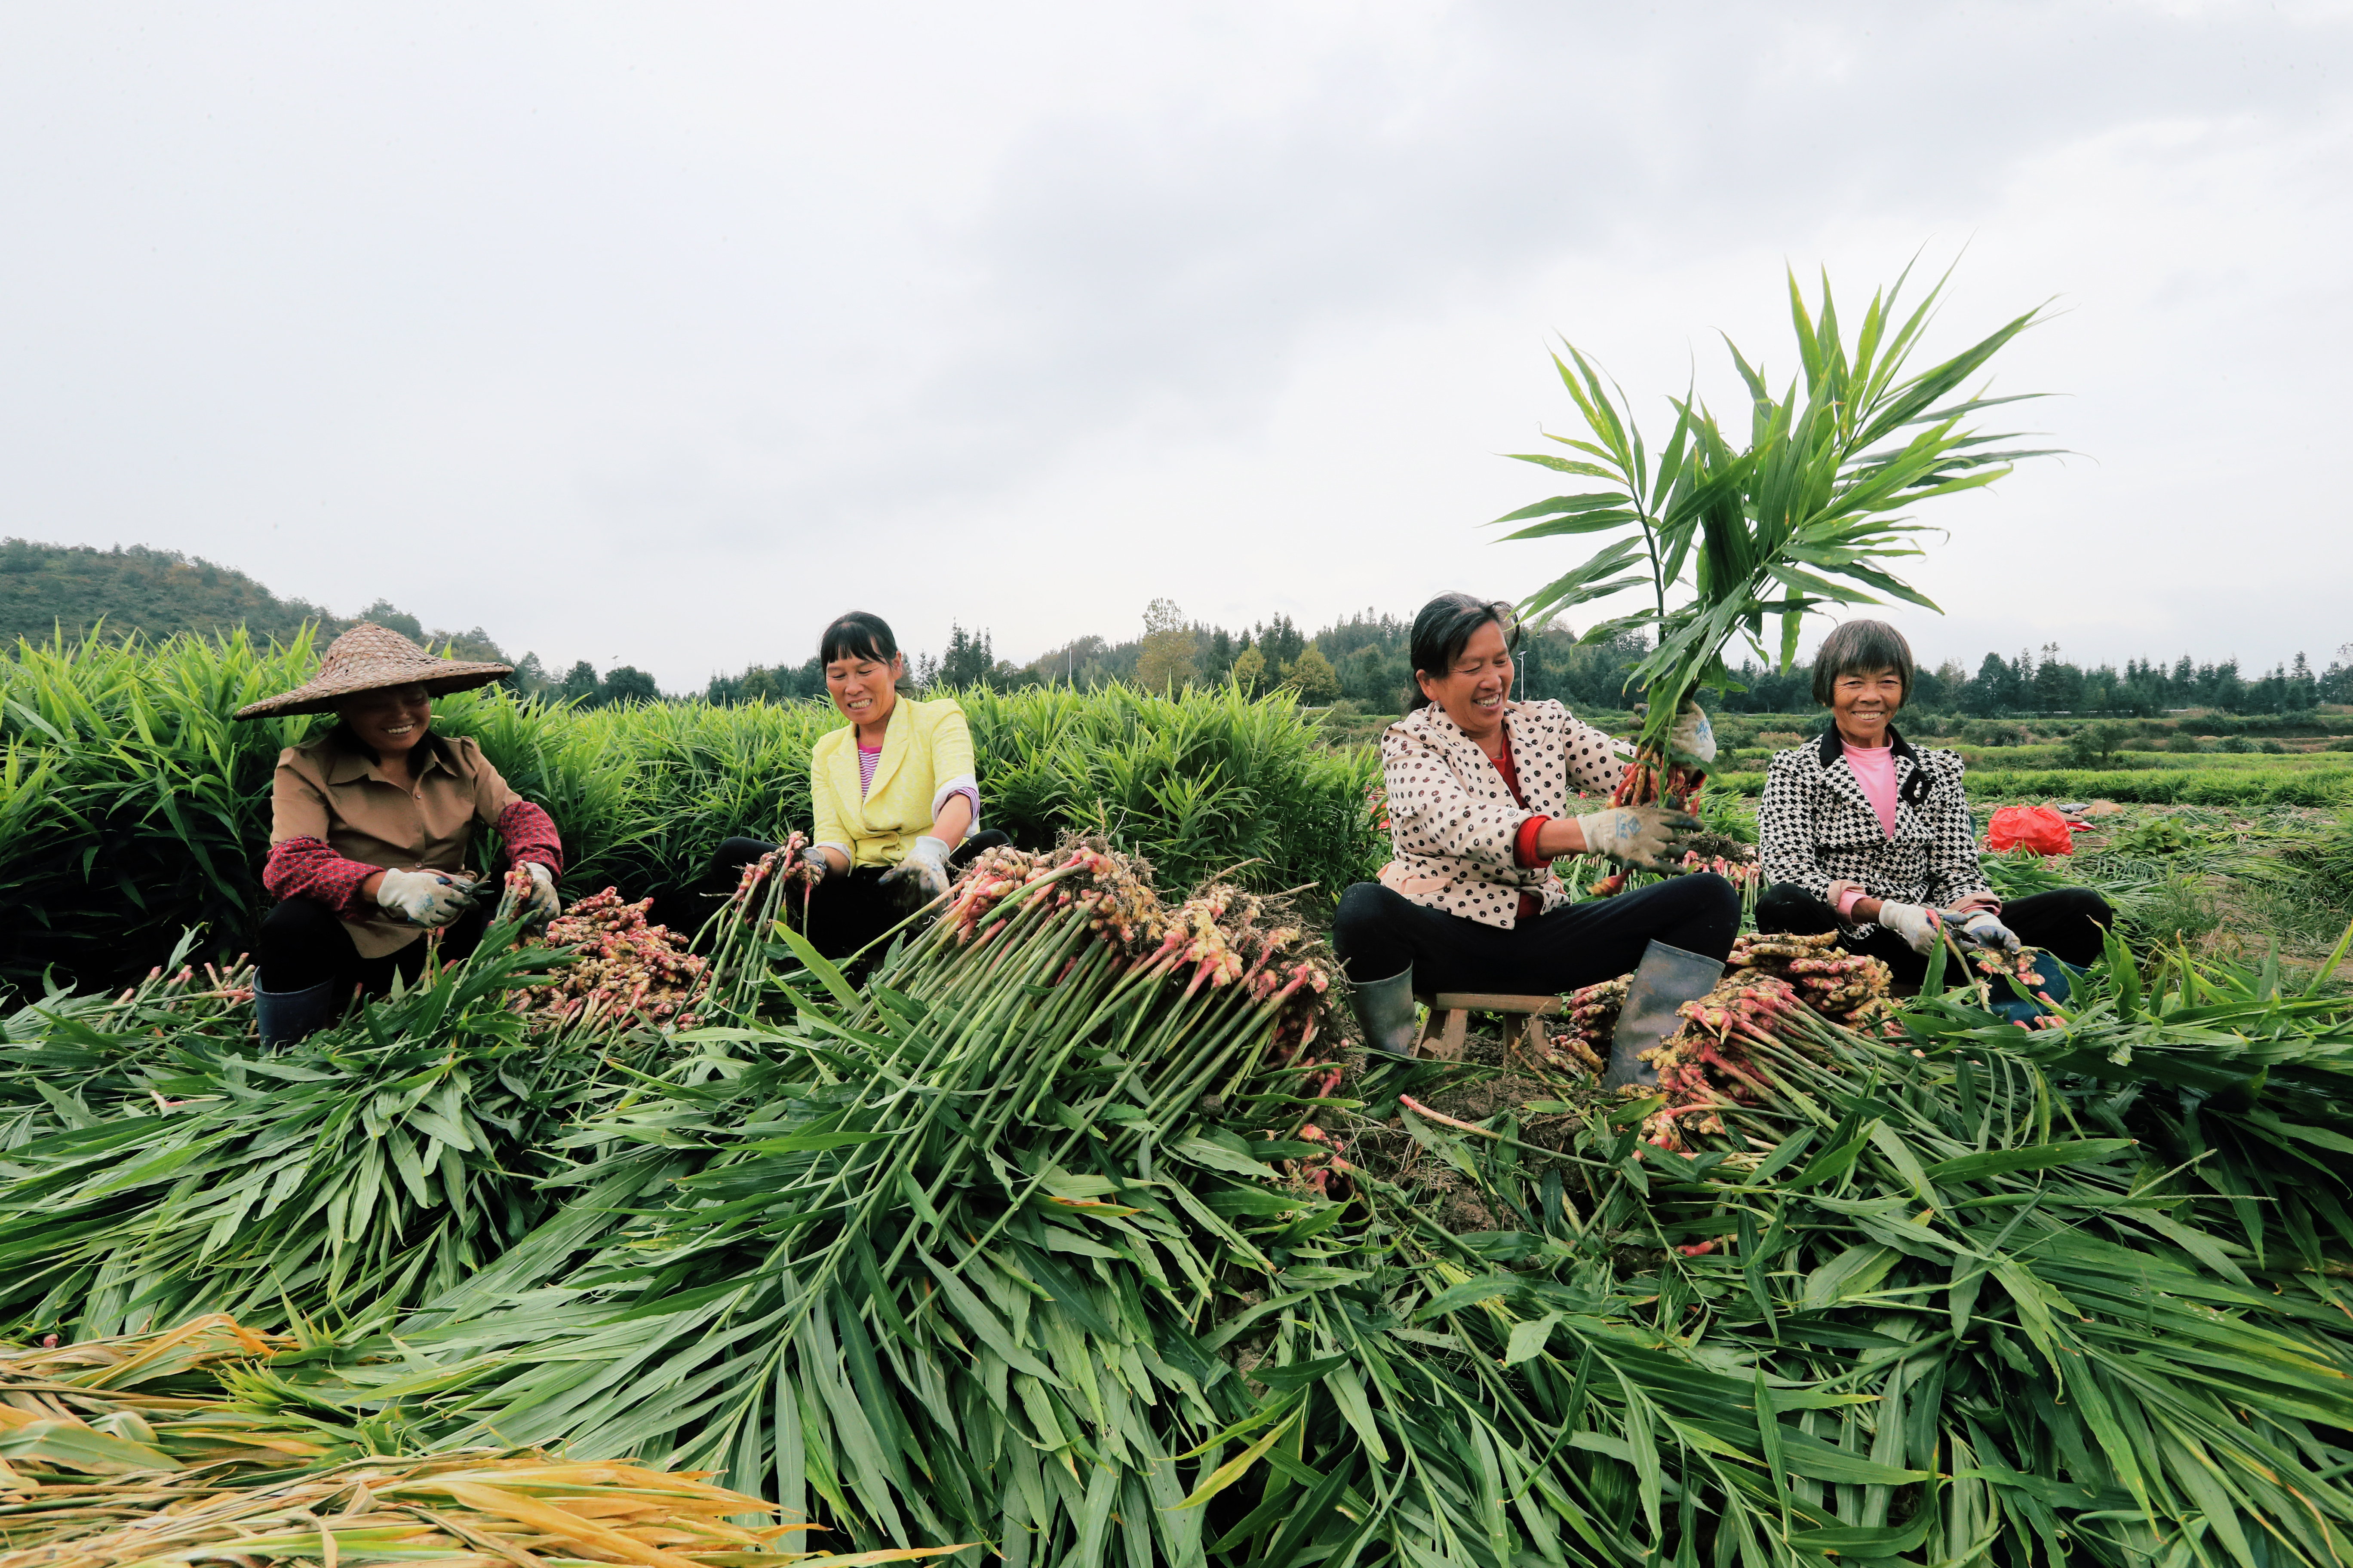
[[[2115,919],[2108,903],[2089,889],[2009,905],[1993,896],[1960,755],[1913,750],[1894,729],[1911,682],[1911,646],[1885,621],[1847,621],[1821,639],[1814,701],[1831,726],[1774,752],[1765,776],[1758,839],[1772,886],[1758,898],[1758,931],[1838,931],[1899,980],[1927,971],[1946,926],[1972,945],[2028,943],[2089,964]]]

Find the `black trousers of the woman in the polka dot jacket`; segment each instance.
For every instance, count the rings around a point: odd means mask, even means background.
[[[1412,966],[1414,990],[1558,997],[1633,971],[1652,943],[1722,959],[1739,924],[1741,896],[1715,872],[1572,903],[1511,931],[1358,882],[1341,893],[1332,947],[1351,980]]]

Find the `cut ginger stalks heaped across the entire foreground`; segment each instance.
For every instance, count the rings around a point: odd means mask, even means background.
[[[238,1150],[334,1175],[440,1112],[264,1121],[464,1072],[454,1175],[499,1225],[428,1279],[344,1269],[299,1316],[245,1319],[301,1335],[266,1359],[228,1328],[228,1363],[169,1378],[26,1352],[42,1385],[0,1385],[28,1483],[9,1544],[45,1568],[760,1568],[816,1521],[1007,1568],[2353,1552],[2353,1006],[2318,987],[2125,954],[2057,1025],[2007,1027],[1962,976],[1885,1039],[1751,964],[1694,1006],[1666,1086],[1447,1121],[1412,1105],[1457,1072],[1435,1063],[1332,1093],[1327,959],[1249,893],[1160,900],[1089,844],[998,853],[852,985],[767,919],[774,870],[713,945],[751,1006],[628,1030],[628,1063],[506,1009],[565,959],[485,945],[379,1004],[414,1034],[374,1046],[398,1048],[379,1079],[334,1077],[372,1048],[346,1025],[296,1098],[125,1098],[101,1135],[252,1117]],[[511,1114],[499,1079],[551,1067]],[[1384,1164],[1398,1145],[1426,1159]],[[202,1201],[268,1190],[207,1150]],[[320,1232],[296,1194],[207,1253],[186,1171],[85,1175],[125,1267],[19,1302],[28,1338],[92,1333],[132,1291],[186,1312],[261,1244],[296,1248],[254,1274],[278,1312],[264,1286]],[[75,1246],[52,1187],[16,1178],[0,1211],[0,1262]],[[346,1204],[308,1262],[398,1265],[440,1213]]]

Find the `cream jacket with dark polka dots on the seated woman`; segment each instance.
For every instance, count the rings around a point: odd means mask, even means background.
[[[1428,907],[1511,931],[1520,893],[1544,912],[1569,900],[1551,865],[1522,867],[1513,839],[1529,816],[1569,816],[1569,790],[1617,790],[1633,755],[1553,701],[1504,708],[1511,762],[1527,809],[1504,776],[1435,703],[1381,733],[1393,860],[1381,884]]]

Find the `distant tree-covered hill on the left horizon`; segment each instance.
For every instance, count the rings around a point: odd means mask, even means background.
[[[416,616],[376,599],[358,616],[329,616],[306,599],[280,599],[268,588],[202,557],[146,545],[42,545],[26,538],[0,541],[0,646],[19,637],[47,642],[56,630],[80,637],[101,628],[106,637],[144,632],[228,632],[245,625],[254,637],[289,639],[315,621],[320,639],[355,621],[388,625],[433,646],[454,644],[459,658],[513,663],[489,632],[426,632]]]

